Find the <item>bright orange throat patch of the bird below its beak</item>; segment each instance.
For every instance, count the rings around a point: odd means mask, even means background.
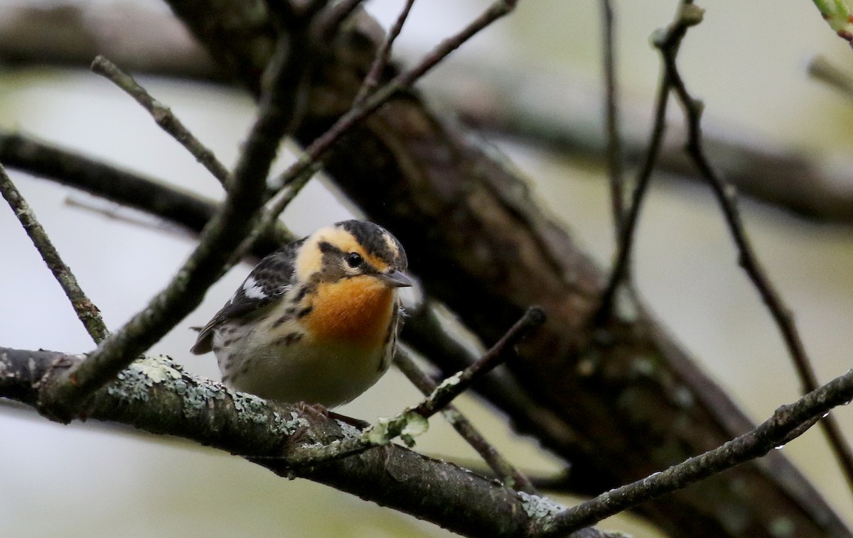
[[[367,275],[317,287],[303,323],[317,339],[380,346],[391,323],[394,289]]]

